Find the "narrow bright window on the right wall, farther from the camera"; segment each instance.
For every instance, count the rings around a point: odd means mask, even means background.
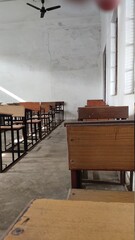
[[[114,13],[111,22],[111,45],[110,45],[110,95],[117,94],[117,41],[118,41],[117,12]]]

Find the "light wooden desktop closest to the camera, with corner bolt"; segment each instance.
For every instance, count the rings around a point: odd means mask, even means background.
[[[133,240],[134,204],[36,200],[5,240]]]

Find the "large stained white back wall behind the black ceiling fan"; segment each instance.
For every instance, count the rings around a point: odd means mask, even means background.
[[[0,86],[26,101],[64,100],[71,119],[87,99],[102,98],[100,15],[92,3],[46,1],[57,4],[40,19],[26,1],[0,2]]]

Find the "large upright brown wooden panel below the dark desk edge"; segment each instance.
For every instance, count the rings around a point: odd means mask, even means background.
[[[67,125],[70,170],[135,170],[134,124]]]

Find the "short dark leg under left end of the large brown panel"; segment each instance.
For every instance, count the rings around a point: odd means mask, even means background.
[[[81,188],[81,170],[71,170],[72,188]]]

